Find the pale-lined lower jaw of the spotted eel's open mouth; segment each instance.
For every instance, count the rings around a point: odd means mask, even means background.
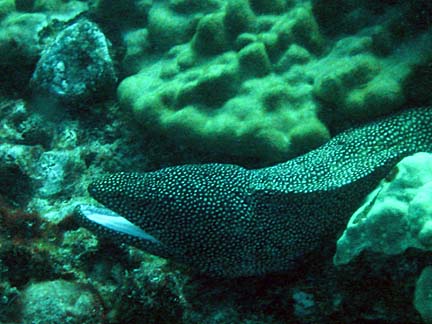
[[[90,225],[99,225],[110,229],[119,234],[126,234],[147,242],[161,244],[153,235],[145,232],[120,214],[106,207],[93,205],[78,205],[75,209],[76,214]]]

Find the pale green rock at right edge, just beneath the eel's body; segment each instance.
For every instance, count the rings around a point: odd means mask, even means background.
[[[337,242],[335,264],[364,250],[386,255],[432,251],[432,154],[406,157],[352,215]]]

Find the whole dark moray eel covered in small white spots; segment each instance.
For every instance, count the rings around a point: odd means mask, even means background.
[[[184,165],[108,175],[104,207],[75,215],[94,232],[217,277],[292,269],[334,244],[351,214],[403,157],[431,151],[432,107],[345,131],[303,156],[247,170]]]

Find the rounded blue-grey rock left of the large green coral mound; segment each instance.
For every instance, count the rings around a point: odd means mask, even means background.
[[[116,81],[109,41],[95,24],[81,20],[44,50],[31,83],[40,96],[78,104],[109,97]]]

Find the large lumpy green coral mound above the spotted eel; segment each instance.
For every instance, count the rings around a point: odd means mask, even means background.
[[[402,4],[396,14],[386,5],[374,9],[379,25],[368,19],[335,38],[315,18],[319,1],[187,3],[191,10],[179,1],[151,9],[158,15],[147,27],[150,43],[138,52],[129,37],[134,56],[125,70],[135,74],[121,82],[118,96],[143,133],[212,159],[284,161],[327,141],[341,121],[399,109],[407,101],[405,80],[418,79],[413,66],[432,48],[424,30],[403,27],[409,40],[396,31],[395,22],[410,12]],[[352,12],[342,14],[349,19]],[[172,23],[155,33],[153,22],[187,17],[193,23],[178,27],[181,39]],[[155,49],[166,49],[162,58],[152,55]]]

